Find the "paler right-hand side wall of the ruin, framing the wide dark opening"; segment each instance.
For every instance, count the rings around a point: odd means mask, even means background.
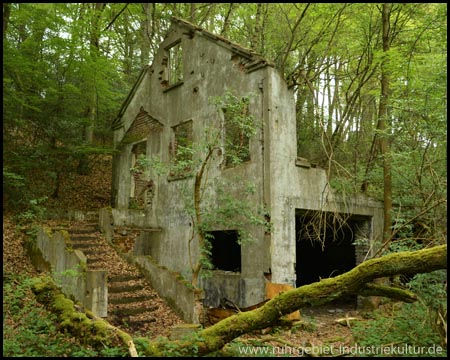
[[[274,283],[295,286],[297,210],[365,216],[370,219],[369,239],[376,242],[382,236],[383,208],[363,195],[338,197],[324,169],[298,161],[293,93],[274,69],[267,70],[266,79],[265,193],[273,225],[270,268]]]

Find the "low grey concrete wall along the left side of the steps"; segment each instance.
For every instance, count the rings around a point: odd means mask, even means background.
[[[39,270],[51,271],[66,296],[73,297],[99,317],[107,316],[106,271],[87,270],[86,256],[70,246],[67,232],[40,228],[30,257]]]

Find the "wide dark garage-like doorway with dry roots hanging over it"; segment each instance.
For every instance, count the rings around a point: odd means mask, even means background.
[[[317,211],[296,214],[297,287],[343,274],[356,266],[352,221]]]

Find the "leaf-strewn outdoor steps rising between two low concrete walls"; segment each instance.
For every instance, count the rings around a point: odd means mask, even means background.
[[[88,269],[108,272],[107,321],[129,333],[148,337],[168,336],[172,326],[183,322],[139,270],[117,254],[97,223],[73,222],[68,231],[72,247],[86,255]],[[123,233],[115,232],[116,236],[120,243],[125,241]]]

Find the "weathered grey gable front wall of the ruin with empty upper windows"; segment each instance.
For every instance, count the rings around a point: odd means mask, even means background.
[[[173,88],[163,88],[161,85],[161,73],[164,72],[164,57],[167,55],[164,48],[174,41],[181,39],[184,55],[184,79],[183,83]],[[157,156],[163,162],[170,162],[169,147],[172,142],[172,127],[182,122],[192,120],[195,141],[201,141],[206,126],[218,127],[223,121],[217,109],[210,103],[210,97],[221,96],[226,90],[232,90],[236,95],[248,95],[254,97],[250,103],[250,112],[257,121],[262,121],[262,106],[265,68],[247,73],[243,71],[239,56],[232,59],[232,52],[223,46],[211,46],[211,40],[202,35],[195,34],[193,38],[187,35],[186,29],[176,24],[161,44],[160,50],[155,56],[153,65],[146,71],[134,96],[129,100],[122,116],[123,127],[115,131],[115,143],[118,145],[132,126],[136,115],[143,107],[163,124],[160,133],[160,147],[152,147],[150,134],[147,136],[148,156]],[[218,81],[220,79],[220,81]],[[261,124],[261,123],[259,123]],[[208,178],[221,177],[233,182],[236,178],[248,179],[256,186],[257,192],[250,200],[256,206],[262,206],[263,200],[263,131],[258,125],[258,133],[251,140],[251,160],[236,168],[224,168],[223,155],[215,154],[209,169]],[[155,186],[155,198],[152,210],[136,211],[128,209],[128,197],[131,190],[131,146],[121,145],[122,153],[116,157],[114,176],[117,182],[117,202],[113,210],[115,225],[134,225],[142,228],[160,228],[161,232],[153,236],[155,246],[148,247],[151,255],[158,262],[179,271],[185,277],[190,276],[189,259],[186,256],[189,250],[194,257],[197,256],[197,244],[188,248],[188,239],[192,231],[191,218],[185,210],[180,197],[183,188],[193,189],[193,178],[173,180],[167,176],[153,174]],[[214,189],[211,189],[214,198]],[[242,197],[242,188],[232,186],[230,192]],[[227,230],[227,229],[211,229]],[[229,229],[232,230],[232,229]],[[255,249],[266,248],[267,239],[260,236],[258,231],[257,244],[243,248],[242,271],[246,278],[262,278],[261,268],[269,268],[267,251],[261,256],[254,257]],[[263,234],[263,233],[262,233]],[[164,244],[159,246],[158,244]],[[196,259],[194,259],[195,261]]]

